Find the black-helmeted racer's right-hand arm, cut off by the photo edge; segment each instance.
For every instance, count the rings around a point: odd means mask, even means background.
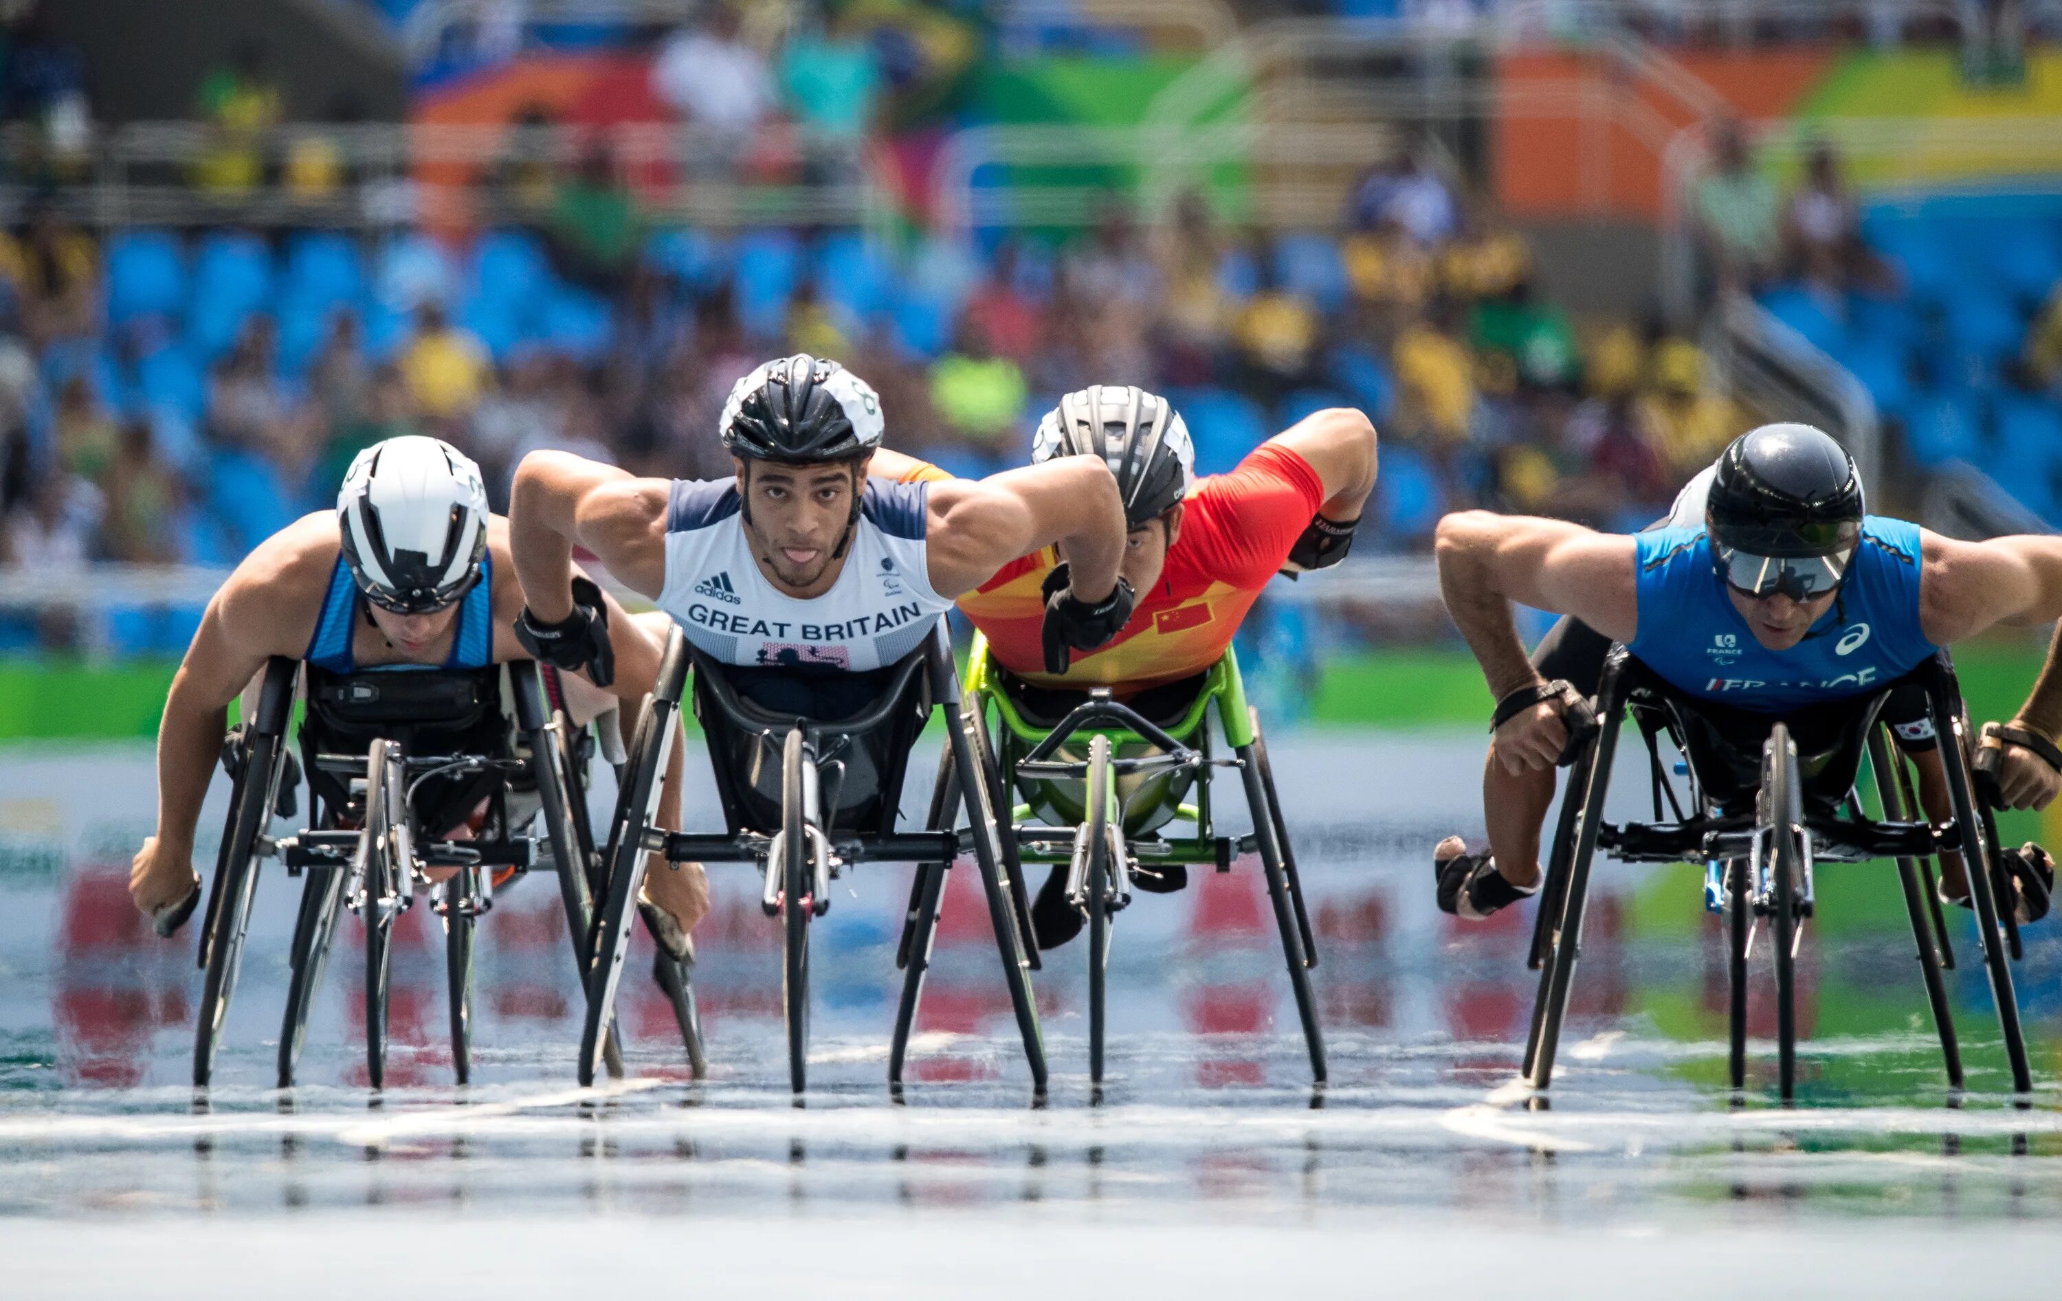
[[[2015,536],[1961,542],[1934,532],[1920,536],[1920,631],[1951,645],[1994,625],[2041,625],[2062,619],[2062,538]],[[2062,629],[2013,726],[2048,740],[2062,738]],[[1986,742],[1998,744],[1998,742]],[[2013,808],[2046,808],[2062,792],[2062,773],[2017,744],[2002,746],[1998,788]]]

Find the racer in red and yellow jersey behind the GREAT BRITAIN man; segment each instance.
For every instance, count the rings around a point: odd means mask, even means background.
[[[1087,388],[1060,398],[1031,443],[1033,464],[1076,456],[1105,460],[1124,493],[1124,581],[1144,598],[1122,631],[1087,654],[1043,635],[1043,594],[1070,573],[1064,544],[1010,561],[961,596],[959,608],[988,637],[996,660],[1033,691],[1111,687],[1113,697],[1146,713],[1155,689],[1196,678],[1223,658],[1276,571],[1344,559],[1375,489],[1375,427],[1351,408],[1320,410],[1260,443],[1229,474],[1198,480],[1188,427],[1165,398],[1138,388]],[[893,452],[874,458],[874,472],[905,480],[944,474]],[[1138,878],[1149,891],[1186,882],[1179,864]],[[1080,934],[1064,866],[1039,889],[1031,926],[1039,948]]]

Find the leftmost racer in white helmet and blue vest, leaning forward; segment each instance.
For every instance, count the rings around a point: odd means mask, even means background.
[[[660,658],[647,629],[586,579],[581,586],[606,608],[610,633],[594,637],[577,662],[561,662],[588,676],[561,678],[575,720],[602,713],[610,695],[635,707]],[[260,542],[200,619],[159,724],[157,833],[130,868],[136,907],[161,936],[171,936],[200,901],[194,825],[223,753],[225,711],[270,656],[305,660],[311,674],[400,666],[456,674],[534,658],[520,612],[509,526],[489,513],[478,466],[421,435],[361,452],[336,509],[305,515]],[[423,804],[435,804],[433,821],[445,823],[433,827],[437,835],[464,827],[483,798],[431,794],[425,790]],[[678,802],[678,771],[668,773],[668,798]],[[683,957],[687,932],[707,911],[707,882],[699,870],[652,872],[647,880],[658,905],[647,918]]]

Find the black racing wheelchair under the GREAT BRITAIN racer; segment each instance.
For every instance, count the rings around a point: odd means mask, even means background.
[[[726,831],[687,833],[654,825],[660,777],[674,738],[674,713],[693,674],[701,724]],[[872,672],[808,666],[734,668],[695,649],[674,629],[660,662],[652,707],[637,728],[617,798],[604,862],[608,893],[588,953],[588,1021],[579,1045],[579,1082],[602,1062],[623,959],[629,913],[652,854],[666,862],[749,862],[761,874],[761,907],[781,924],[781,1014],[788,1029],[788,1082],[808,1082],[808,930],[831,905],[831,880],[860,862],[953,862],[973,849],[988,893],[988,918],[1002,957],[1017,1029],[1031,1080],[1045,1093],[1045,1047],[1031,994],[1029,934],[1021,876],[1006,876],[992,788],[984,781],[940,786],[922,831],[897,831],[909,748],[932,709],[946,711],[946,753],[957,771],[982,773],[973,736],[959,709],[959,674],[944,621],[895,664]],[[955,831],[959,804],[969,831]],[[918,979],[920,983],[920,979]],[[903,1000],[913,1008],[916,990]],[[901,1085],[909,1016],[897,1019],[889,1082]]]

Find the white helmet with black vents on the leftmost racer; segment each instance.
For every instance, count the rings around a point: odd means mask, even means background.
[[[365,600],[398,614],[441,610],[480,577],[487,485],[443,439],[386,439],[344,472],[336,526]]]

